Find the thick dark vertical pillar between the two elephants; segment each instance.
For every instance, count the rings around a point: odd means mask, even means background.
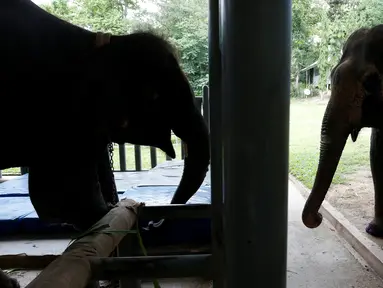
[[[291,0],[223,0],[225,287],[286,287]]]

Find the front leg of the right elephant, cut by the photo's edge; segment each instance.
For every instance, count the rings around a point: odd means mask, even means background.
[[[375,191],[375,213],[366,232],[383,238],[383,131],[379,129],[371,131],[370,165]]]

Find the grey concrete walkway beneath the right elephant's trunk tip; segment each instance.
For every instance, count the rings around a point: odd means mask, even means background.
[[[287,287],[383,287],[383,281],[351,254],[326,221],[312,230],[303,225],[304,202],[290,182]]]

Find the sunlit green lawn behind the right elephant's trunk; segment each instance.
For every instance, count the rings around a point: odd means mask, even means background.
[[[325,104],[292,100],[290,106],[290,173],[312,188],[319,159],[319,141]],[[368,168],[370,129],[363,129],[354,143],[348,139],[333,184],[344,183],[353,172]]]

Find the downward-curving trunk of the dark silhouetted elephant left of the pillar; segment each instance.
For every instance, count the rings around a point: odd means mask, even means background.
[[[174,127],[174,133],[185,142],[185,165],[180,184],[171,204],[185,204],[199,189],[210,163],[210,143],[207,125],[194,107],[191,114],[183,116]]]

